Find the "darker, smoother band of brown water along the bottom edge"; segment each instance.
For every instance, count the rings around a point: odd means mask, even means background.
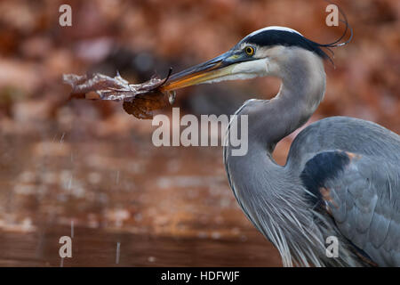
[[[194,239],[76,228],[72,258],[59,256],[68,227],[40,233],[1,232],[0,266],[276,266],[279,258],[265,240]],[[117,241],[118,240],[118,241]],[[120,242],[119,258],[117,244]],[[118,260],[117,260],[118,258]]]

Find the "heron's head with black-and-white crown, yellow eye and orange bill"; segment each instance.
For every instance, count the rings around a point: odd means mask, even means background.
[[[307,51],[324,59],[319,45],[292,28],[261,28],[244,37],[227,53],[172,75],[163,86],[166,91],[189,85],[252,77],[279,77],[284,62],[296,51]]]

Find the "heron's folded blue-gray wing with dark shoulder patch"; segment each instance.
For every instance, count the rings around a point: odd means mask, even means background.
[[[301,175],[340,233],[380,266],[400,266],[400,166],[345,151],[323,151]]]

